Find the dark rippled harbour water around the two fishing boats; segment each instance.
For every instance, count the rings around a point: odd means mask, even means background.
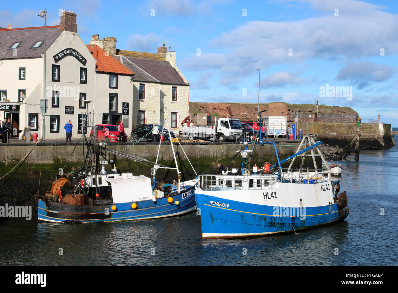
[[[398,147],[347,159],[338,177],[350,208],[343,222],[300,234],[202,240],[196,212],[95,224],[11,218],[0,221],[0,264],[396,265]]]

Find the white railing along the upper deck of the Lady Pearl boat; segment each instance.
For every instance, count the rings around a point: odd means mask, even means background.
[[[207,174],[199,175],[202,190],[252,190],[272,189],[278,182],[314,184],[330,181],[329,169],[274,168],[269,173],[258,174]]]

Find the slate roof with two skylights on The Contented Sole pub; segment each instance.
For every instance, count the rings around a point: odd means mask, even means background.
[[[47,49],[57,39],[59,26],[47,26]],[[43,41],[38,48],[32,48],[37,41]],[[14,43],[21,42],[13,56]],[[0,59],[40,58],[44,53],[44,26],[35,28],[0,29]]]

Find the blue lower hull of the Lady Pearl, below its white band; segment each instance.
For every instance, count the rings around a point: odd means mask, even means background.
[[[279,206],[232,201],[198,191],[195,192],[195,199],[200,210],[203,239],[294,232],[338,222],[346,218],[349,212],[348,206],[340,209],[337,203],[333,203],[326,206],[290,207],[297,216],[283,216],[284,210]],[[289,210],[286,214],[289,214]]]

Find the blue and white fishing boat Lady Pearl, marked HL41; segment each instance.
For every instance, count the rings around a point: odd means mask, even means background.
[[[300,150],[304,142],[308,147]],[[252,150],[242,151],[240,172],[199,175],[195,199],[199,208],[203,239],[236,238],[296,232],[341,221],[348,216],[347,195],[340,193],[339,181],[332,181],[330,169],[318,169],[314,150],[324,157],[313,137],[304,136],[294,155],[263,169],[250,169]],[[314,169],[292,169],[282,164],[307,153]],[[249,168],[247,169],[247,165]]]

